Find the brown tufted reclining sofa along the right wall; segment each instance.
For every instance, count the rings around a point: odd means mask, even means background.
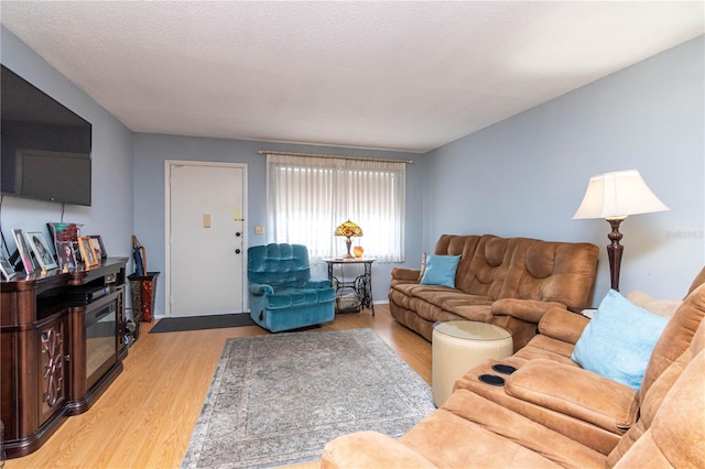
[[[588,306],[598,252],[585,242],[443,234],[434,254],[460,255],[455,288],[422,285],[422,270],[393,269],[389,308],[429,341],[435,323],[469,319],[509,330],[519,350],[550,308]]]

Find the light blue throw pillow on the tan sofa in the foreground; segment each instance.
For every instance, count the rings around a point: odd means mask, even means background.
[[[573,361],[639,391],[651,352],[669,318],[610,290],[575,343]]]

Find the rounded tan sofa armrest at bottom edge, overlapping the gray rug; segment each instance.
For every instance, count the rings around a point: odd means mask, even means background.
[[[387,435],[357,432],[328,441],[323,448],[322,469],[338,468],[435,468],[426,458]]]

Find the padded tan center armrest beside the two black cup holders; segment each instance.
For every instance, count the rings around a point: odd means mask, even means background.
[[[592,371],[553,360],[530,360],[512,373],[507,394],[623,434],[637,421],[639,393]]]

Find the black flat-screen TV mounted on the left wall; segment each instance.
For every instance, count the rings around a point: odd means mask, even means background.
[[[3,195],[90,205],[91,126],[2,65]]]

